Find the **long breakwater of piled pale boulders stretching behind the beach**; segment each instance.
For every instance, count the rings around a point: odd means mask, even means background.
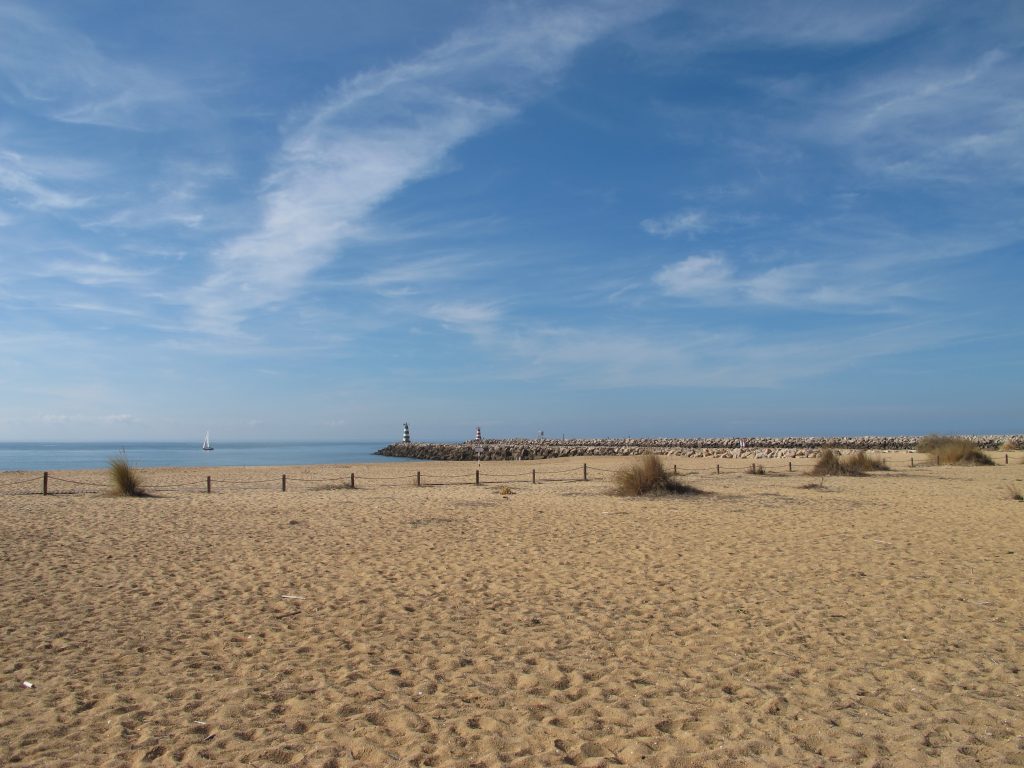
[[[997,451],[1005,444],[1024,444],[1024,435],[957,435],[979,449]],[[395,442],[378,456],[432,461],[528,461],[566,456],[639,456],[662,454],[702,459],[815,458],[823,449],[848,451],[913,451],[918,435],[861,437],[628,437],[597,439],[467,440],[466,442]],[[482,449],[477,453],[477,449]]]

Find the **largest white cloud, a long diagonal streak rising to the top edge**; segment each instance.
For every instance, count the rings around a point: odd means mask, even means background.
[[[658,6],[517,7],[424,54],[353,77],[286,133],[259,222],[213,255],[197,325],[238,331],[358,239],[369,214],[443,169],[453,148],[516,115],[581,47]]]

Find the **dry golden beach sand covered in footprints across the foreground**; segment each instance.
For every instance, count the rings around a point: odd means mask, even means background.
[[[614,459],[507,497],[412,485],[465,464],[0,496],[0,764],[1024,765],[1020,456],[817,488],[670,460],[711,493],[652,500]]]

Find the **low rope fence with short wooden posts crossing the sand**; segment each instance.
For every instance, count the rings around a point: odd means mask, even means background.
[[[620,457],[628,459],[627,457]],[[666,458],[663,457],[663,463]],[[696,457],[698,458],[698,457]],[[707,458],[703,459],[707,461]],[[714,467],[703,466],[698,468],[684,468],[682,474],[687,476],[708,475],[708,474],[768,474],[779,475],[788,473],[804,472],[817,463],[815,459],[786,460],[786,459],[761,459],[743,460],[742,465],[728,464],[722,465],[722,461],[737,462],[737,459],[719,460]],[[923,460],[922,458],[910,456],[907,460],[886,458],[885,464],[890,469],[914,469],[923,467],[934,467],[934,462]],[[748,464],[746,462],[750,462]],[[1010,463],[1010,455],[1004,454],[1004,463]],[[668,467],[667,467],[668,468]],[[281,493],[303,493],[316,490],[335,490],[342,488],[360,487],[438,487],[443,485],[507,485],[519,484],[541,484],[550,482],[586,482],[594,479],[597,481],[609,481],[618,468],[595,467],[589,464],[569,467],[567,469],[530,469],[523,472],[503,472],[487,473],[479,468],[470,472],[438,472],[426,474],[417,471],[415,474],[380,474],[368,473],[356,474],[354,471],[347,475],[313,477],[307,475],[282,474],[271,477],[243,477],[226,478],[207,475],[202,479],[183,481],[174,484],[144,485],[147,493],[193,493],[193,494],[223,494],[238,490],[279,490]],[[140,470],[144,476],[144,470]],[[672,465],[672,474],[679,475],[679,465]],[[110,483],[93,482],[89,480],[79,480],[71,477],[54,475],[50,472],[43,472],[41,475],[33,477],[18,478],[14,480],[0,481],[0,496],[68,496],[81,494],[104,494],[110,490]]]

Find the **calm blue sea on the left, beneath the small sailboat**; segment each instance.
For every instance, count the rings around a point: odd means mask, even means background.
[[[0,442],[0,471],[101,469],[123,449],[137,467],[282,467],[409,461],[374,456],[380,442]]]

